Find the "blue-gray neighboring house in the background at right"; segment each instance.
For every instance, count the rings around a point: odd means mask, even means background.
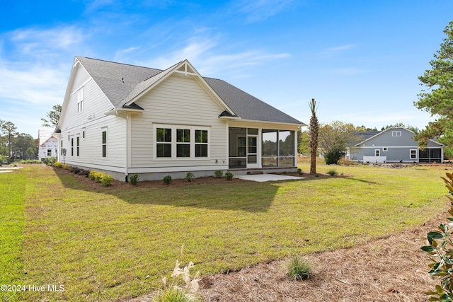
[[[380,132],[360,132],[362,141],[351,146],[350,161],[363,163],[442,163],[444,145],[434,139],[420,150],[415,133],[404,127],[391,127]]]

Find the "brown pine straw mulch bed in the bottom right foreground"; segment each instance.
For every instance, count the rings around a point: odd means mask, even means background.
[[[278,260],[204,277],[201,294],[209,302],[428,301],[425,293],[439,279],[428,274],[430,260],[420,247],[447,215],[365,245],[307,255],[315,271],[308,281],[289,279],[288,260]]]

